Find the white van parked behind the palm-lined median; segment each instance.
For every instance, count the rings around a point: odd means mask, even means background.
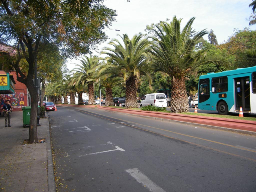
[[[164,93],[151,93],[146,94],[142,100],[140,106],[155,105],[157,107],[167,107],[167,99]]]

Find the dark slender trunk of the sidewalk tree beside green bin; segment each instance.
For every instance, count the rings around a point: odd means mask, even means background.
[[[33,81],[27,80],[25,85],[28,88],[31,97],[31,112],[29,122],[29,144],[37,143],[37,108],[38,108],[38,93],[33,84]]]

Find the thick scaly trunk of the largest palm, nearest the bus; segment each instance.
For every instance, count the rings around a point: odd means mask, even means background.
[[[172,79],[172,96],[170,110],[172,113],[188,112],[189,110],[188,96],[186,93],[185,80]]]

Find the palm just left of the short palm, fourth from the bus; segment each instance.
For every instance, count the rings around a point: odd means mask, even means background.
[[[75,72],[75,78],[73,78],[72,83],[76,85],[84,86],[85,83],[88,84],[88,95],[89,95],[89,105],[95,104],[95,96],[93,91],[93,81],[96,81],[94,75],[100,64],[99,60],[101,58],[97,56],[84,57],[80,60],[81,65],[76,65],[77,68],[74,68],[72,71]]]

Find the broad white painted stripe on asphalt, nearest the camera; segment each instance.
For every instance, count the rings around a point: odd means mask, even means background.
[[[150,180],[146,175],[144,175],[139,169],[126,169],[127,173],[129,173],[133,178],[137,180],[137,182],[141,183],[151,192],[165,192],[161,187],[156,185],[152,180]]]

